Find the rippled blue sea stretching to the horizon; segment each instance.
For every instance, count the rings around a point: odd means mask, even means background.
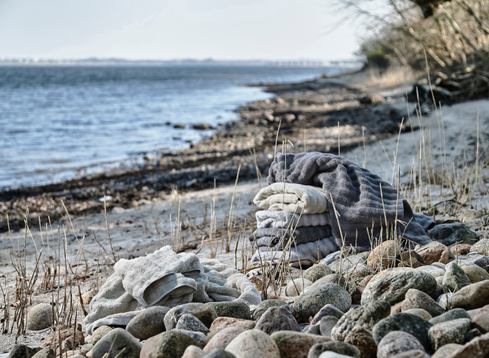
[[[242,103],[272,94],[249,83],[291,83],[328,66],[0,66],[0,189],[42,185],[148,152],[178,150],[238,120]],[[175,129],[174,124],[185,124]]]

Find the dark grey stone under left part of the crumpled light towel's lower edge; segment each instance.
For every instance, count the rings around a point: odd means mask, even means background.
[[[142,310],[134,316],[126,326],[126,331],[138,339],[147,339],[164,332],[165,315],[170,308],[164,306],[152,306]],[[93,343],[92,343],[93,344]]]

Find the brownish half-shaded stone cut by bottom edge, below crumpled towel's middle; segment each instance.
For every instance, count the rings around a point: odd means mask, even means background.
[[[181,332],[168,331],[157,334],[145,341],[141,348],[140,358],[156,358],[156,357],[182,357],[189,345],[197,345],[198,343]],[[124,357],[126,357],[124,355]],[[95,358],[95,357],[92,357]]]

